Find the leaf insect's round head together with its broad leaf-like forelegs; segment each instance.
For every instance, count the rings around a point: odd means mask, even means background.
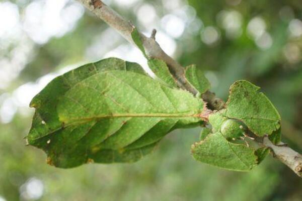
[[[226,109],[209,115],[214,134],[207,134],[202,141],[192,145],[193,157],[201,162],[225,169],[248,171],[259,164],[269,150],[255,150],[245,144],[236,144],[245,126],[257,135],[271,134],[274,142],[280,140],[277,130],[280,116],[259,87],[248,81],[238,81],[231,86]]]

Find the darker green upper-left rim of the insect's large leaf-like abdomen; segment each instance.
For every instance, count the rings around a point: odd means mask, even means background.
[[[137,63],[127,62],[117,58],[108,58],[83,65],[56,77],[38,93],[30,103],[30,107],[35,108],[36,112],[28,140],[43,137],[43,134],[48,131],[61,128],[62,122],[59,121],[56,111],[60,97],[82,80],[99,72],[109,70],[131,71],[146,75]],[[47,122],[47,126],[45,126],[45,122]]]

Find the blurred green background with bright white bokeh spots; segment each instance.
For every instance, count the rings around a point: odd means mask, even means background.
[[[247,79],[282,117],[283,141],[302,151],[300,0],[104,1],[181,64],[206,71],[212,91]],[[141,53],[75,1],[0,0],[0,200],[302,200],[302,180],[271,156],[248,173],[190,156],[200,128],[169,134],[133,164],[58,169],[25,146],[31,98],[55,76],[115,56],[146,66]]]

